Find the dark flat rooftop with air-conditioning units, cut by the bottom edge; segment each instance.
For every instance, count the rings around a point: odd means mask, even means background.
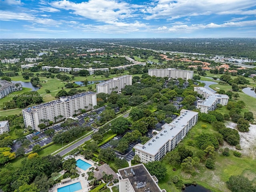
[[[143,164],[119,169],[118,173],[130,181],[135,192],[145,192],[148,188],[150,192],[162,192]]]

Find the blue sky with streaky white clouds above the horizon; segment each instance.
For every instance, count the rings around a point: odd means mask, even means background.
[[[0,38],[256,37],[256,0],[0,0]]]

